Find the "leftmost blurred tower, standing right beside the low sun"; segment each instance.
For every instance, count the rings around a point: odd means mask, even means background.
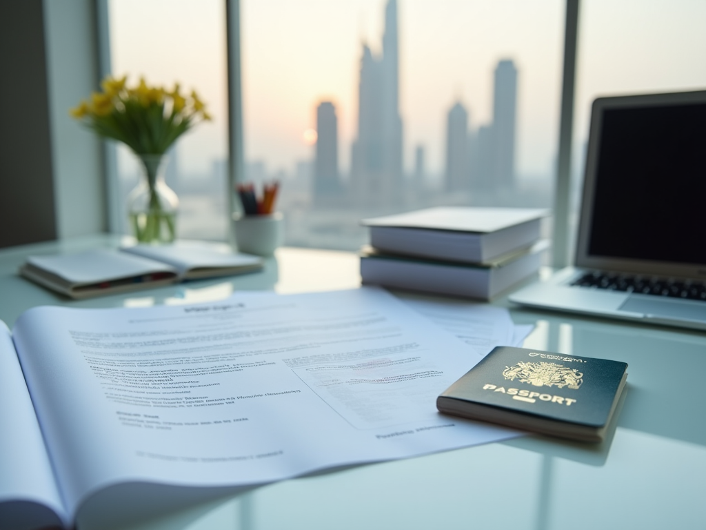
[[[336,108],[323,101],[316,108],[316,158],[313,171],[313,192],[316,199],[334,196],[341,191],[338,172],[338,119]]]

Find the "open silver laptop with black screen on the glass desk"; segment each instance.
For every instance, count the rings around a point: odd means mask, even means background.
[[[706,90],[599,98],[575,266],[510,301],[706,329]]]

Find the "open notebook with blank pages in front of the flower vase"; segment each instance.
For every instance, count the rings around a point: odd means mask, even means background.
[[[90,298],[262,267],[261,258],[234,253],[225,244],[177,241],[172,245],[30,256],[20,267],[20,274],[71,298]]]

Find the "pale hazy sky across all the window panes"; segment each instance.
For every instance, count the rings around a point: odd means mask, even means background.
[[[347,168],[355,134],[361,42],[381,45],[384,0],[241,0],[245,146],[249,160],[291,170],[311,158],[304,131],[331,100]],[[445,117],[456,100],[472,128],[491,117],[493,69],[515,61],[517,169],[547,175],[556,152],[564,3],[561,0],[398,0],[405,161],[426,146],[443,167]],[[136,16],[139,13],[139,16]],[[196,87],[215,122],[180,141],[180,165],[207,170],[225,155],[222,0],[112,0],[114,71]],[[706,88],[706,1],[582,2],[576,132],[595,95]]]

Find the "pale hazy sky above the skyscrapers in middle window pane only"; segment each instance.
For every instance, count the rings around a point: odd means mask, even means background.
[[[241,6],[247,151],[276,165],[310,156],[311,148],[292,139],[314,126],[318,102],[333,100],[348,167],[362,42],[381,48],[385,2],[245,0]],[[520,165],[542,172],[556,143],[561,1],[400,0],[398,12],[407,167],[419,143],[430,169],[442,167],[446,113],[456,100],[470,111],[473,127],[489,121],[493,69],[510,57],[520,71],[518,125],[527,139]]]

